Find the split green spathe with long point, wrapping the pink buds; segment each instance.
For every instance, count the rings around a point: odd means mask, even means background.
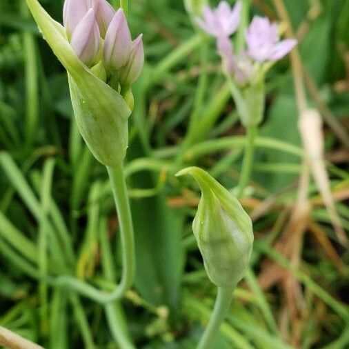
[[[44,39],[68,71],[74,115],[83,139],[103,165],[117,166],[128,147],[128,104],[79,60],[63,26],[37,0],[26,2]]]

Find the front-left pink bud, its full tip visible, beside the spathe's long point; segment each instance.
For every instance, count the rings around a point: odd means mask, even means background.
[[[90,8],[85,17],[72,33],[70,45],[77,56],[86,64],[91,66],[97,59],[100,46],[100,34],[94,10]]]

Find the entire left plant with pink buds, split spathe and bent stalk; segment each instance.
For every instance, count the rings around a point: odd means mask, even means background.
[[[128,148],[128,117],[133,108],[132,83],[144,62],[141,37],[132,41],[123,13],[106,0],[66,0],[63,24],[54,21],[37,0],[26,0],[43,37],[68,72],[74,116],[94,157],[107,167],[117,206],[123,274],[110,294],[66,276],[68,286],[99,303],[119,299],[134,279],[134,237],[123,160]]]

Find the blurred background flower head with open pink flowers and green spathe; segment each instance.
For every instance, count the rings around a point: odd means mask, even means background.
[[[211,9],[203,7],[203,18],[197,25],[217,39],[217,52],[229,81],[241,122],[257,126],[263,119],[265,105],[264,81],[272,63],[286,56],[297,40],[280,41],[276,23],[255,16],[246,32],[246,49],[235,51],[230,36],[240,23],[241,1],[233,9],[226,1]]]

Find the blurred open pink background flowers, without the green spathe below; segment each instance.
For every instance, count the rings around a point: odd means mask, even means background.
[[[297,44],[295,39],[280,41],[277,23],[255,16],[246,31],[246,50],[235,53],[230,36],[237,31],[241,19],[241,1],[230,8],[221,1],[217,8],[203,8],[203,18],[197,24],[217,39],[217,50],[223,60],[223,70],[233,74],[237,83],[244,84],[255,74],[255,63],[266,63],[283,58]]]

